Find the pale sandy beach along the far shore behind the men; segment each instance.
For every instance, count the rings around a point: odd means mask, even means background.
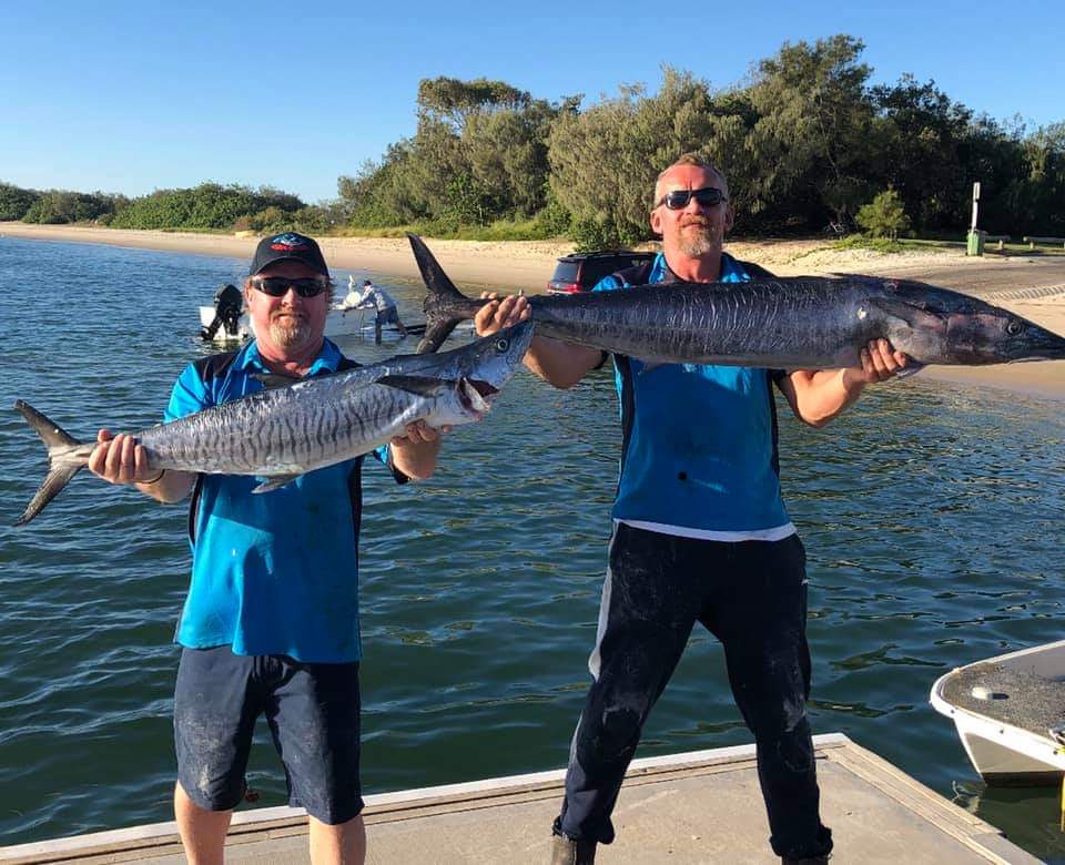
[[[70,225],[28,225],[0,223],[0,237],[64,243],[103,243],[114,246],[163,250],[200,255],[223,255],[250,258],[258,238],[193,232],[129,231]],[[406,240],[388,237],[325,237],[321,241],[331,265],[345,269],[417,277],[418,272]],[[551,275],[555,260],[572,251],[572,245],[546,241],[481,242],[429,240],[429,246],[448,274],[458,283],[499,291],[542,292]],[[739,258],[757,262],[781,276],[799,274],[866,273],[897,274],[907,278],[927,278],[935,272],[943,279],[944,271],[956,278],[951,284],[965,289],[967,272],[1000,267],[1002,283],[1012,286],[1012,276],[1023,266],[1017,260],[966,258],[960,252],[902,253],[883,255],[868,251],[839,252],[820,241],[738,241],[727,250]],[[1061,261],[1061,260],[1058,260]],[[1031,264],[1031,263],[1030,263]],[[1065,262],[1041,263],[1047,276],[1043,283],[1061,283],[1059,292],[1037,298],[995,299],[1017,315],[1051,330],[1065,334]],[[1031,281],[1031,275],[1028,276]],[[930,279],[931,282],[931,279]],[[944,281],[945,282],[945,281]],[[994,274],[991,284],[994,285]],[[1053,288],[1054,286],[1052,286]],[[921,373],[944,381],[973,386],[991,386],[1023,391],[1033,396],[1065,399],[1065,362],[1015,364],[994,367],[929,367]]]

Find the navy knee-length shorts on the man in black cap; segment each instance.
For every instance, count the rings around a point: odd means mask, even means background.
[[[363,810],[358,780],[358,663],[302,663],[183,649],[174,690],[178,780],[207,811],[244,795],[256,719],[265,714],[285,767],[288,804],[329,825]]]

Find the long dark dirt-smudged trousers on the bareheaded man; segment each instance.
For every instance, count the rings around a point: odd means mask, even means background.
[[[805,713],[805,620],[798,536],[722,542],[617,523],[589,662],[595,681],[574,734],[556,833],[613,841],[610,813],[643,723],[701,622],[724,647],[732,695],[754,735],[773,851],[828,853],[832,833],[818,813]]]

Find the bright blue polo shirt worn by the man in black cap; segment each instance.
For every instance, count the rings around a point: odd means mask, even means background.
[[[307,375],[335,373],[342,360],[326,339]],[[261,390],[252,376],[265,372],[254,342],[190,364],[164,419]],[[383,460],[386,455],[387,448],[376,452]],[[362,461],[310,471],[255,495],[261,479],[201,475],[189,516],[192,580],[176,642],[306,662],[357,661]]]

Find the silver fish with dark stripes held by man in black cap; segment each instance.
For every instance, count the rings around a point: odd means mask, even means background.
[[[405,355],[292,384],[262,376],[267,389],[133,434],[153,469],[264,478],[266,492],[307,471],[368,454],[408,424],[458,426],[479,419],[510,379],[532,339],[532,323],[438,355]],[[16,521],[33,519],[89,464],[81,442],[21,399],[14,404],[48,447],[44,482]]]

